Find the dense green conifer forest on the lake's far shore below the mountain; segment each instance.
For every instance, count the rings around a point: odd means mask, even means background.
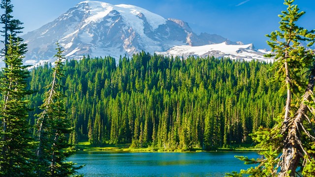
[[[165,57],[69,60],[63,67],[71,144],[132,143],[132,147],[214,149],[252,143],[259,126],[271,128],[282,112],[271,63]],[[51,65],[32,70],[30,123],[42,104]]]

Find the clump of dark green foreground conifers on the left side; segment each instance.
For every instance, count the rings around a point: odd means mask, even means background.
[[[0,17],[0,23],[3,27],[0,32],[4,40],[4,49],[1,50],[5,68],[2,68],[0,75],[0,177],[66,177],[74,176],[76,170],[82,168],[76,167],[72,162],[65,162],[67,157],[75,152],[72,149],[66,149],[71,146],[68,144],[69,134],[73,133],[71,121],[66,116],[64,105],[64,96],[61,92],[61,85],[58,83],[63,77],[62,69],[62,50],[58,45],[58,52],[55,57],[58,58],[56,66],[52,69],[54,75],[51,85],[42,83],[37,85],[43,89],[44,86],[51,89],[45,95],[46,99],[42,102],[41,95],[29,96],[35,97],[36,102],[31,106],[38,106],[44,111],[38,115],[35,121],[34,115],[29,119],[30,109],[26,106],[30,101],[25,98],[26,95],[33,93],[28,88],[29,71],[28,66],[23,66],[23,54],[26,53],[26,44],[21,44],[22,38],[18,36],[21,33],[21,23],[13,19],[13,5],[11,0],[1,0],[0,8],[4,14]],[[51,70],[50,70],[51,71]],[[45,78],[49,82],[49,76]],[[36,123],[35,123],[36,122]],[[38,148],[36,156],[34,154],[35,144],[32,139],[30,125],[36,125],[39,130],[33,132],[33,136],[38,139]],[[75,139],[75,135],[73,135]],[[36,158],[37,157],[37,158]]]

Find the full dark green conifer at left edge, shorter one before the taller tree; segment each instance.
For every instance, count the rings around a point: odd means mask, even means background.
[[[0,130],[0,176],[32,176],[32,134],[28,122],[29,100],[25,96],[32,91],[27,89],[29,77],[27,66],[23,66],[23,57],[19,53],[19,43],[12,40],[7,46],[5,64],[1,77],[1,130]]]

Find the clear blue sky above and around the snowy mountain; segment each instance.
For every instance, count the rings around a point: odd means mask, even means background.
[[[11,0],[14,17],[28,32],[53,21],[83,0]],[[99,0],[111,4],[131,4],[189,23],[196,32],[219,34],[232,41],[269,48],[265,34],[279,29],[278,14],[285,10],[284,0]],[[298,23],[315,29],[315,0],[295,0],[307,13]],[[2,13],[2,12],[1,12]]]

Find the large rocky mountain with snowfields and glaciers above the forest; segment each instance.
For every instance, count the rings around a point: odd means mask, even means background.
[[[22,38],[28,44],[25,63],[32,65],[54,61],[56,41],[63,46],[68,59],[79,59],[84,55],[119,58],[120,55],[131,56],[142,50],[166,55],[209,54],[263,59],[263,53],[253,47],[249,49],[252,45],[244,46],[217,34],[197,35],[184,21],[164,19],[133,5],[90,0],[80,2],[53,22],[28,32]],[[214,47],[217,45],[226,50],[217,50]]]

